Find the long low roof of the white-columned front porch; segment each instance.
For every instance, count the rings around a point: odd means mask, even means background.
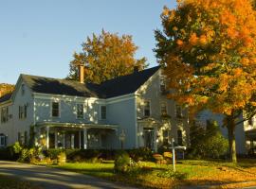
[[[59,128],[74,128],[74,129],[118,129],[118,125],[109,124],[92,124],[92,123],[68,123],[68,122],[39,122],[36,127],[59,127]]]

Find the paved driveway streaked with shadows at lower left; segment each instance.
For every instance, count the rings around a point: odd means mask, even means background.
[[[132,189],[107,180],[45,166],[0,161],[0,173],[28,180],[46,189],[114,188]]]

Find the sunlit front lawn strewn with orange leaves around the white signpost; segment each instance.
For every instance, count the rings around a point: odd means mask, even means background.
[[[179,161],[177,162],[176,169],[188,175],[187,179],[182,181],[157,177],[158,173],[172,168],[172,165],[142,164],[146,167],[147,171],[130,175],[114,174],[113,162],[65,163],[64,165],[52,166],[145,188],[172,188],[183,185],[209,184],[213,185],[212,187],[218,188],[235,188],[256,185],[256,160],[240,160],[237,165],[216,161]]]

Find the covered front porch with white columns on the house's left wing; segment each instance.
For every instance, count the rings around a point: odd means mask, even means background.
[[[48,148],[111,148],[117,125],[44,122],[36,125],[38,144]]]

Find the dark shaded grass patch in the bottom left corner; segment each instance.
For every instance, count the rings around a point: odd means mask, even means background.
[[[0,175],[1,189],[39,189],[38,186],[31,184],[29,181],[19,180],[12,176]]]

